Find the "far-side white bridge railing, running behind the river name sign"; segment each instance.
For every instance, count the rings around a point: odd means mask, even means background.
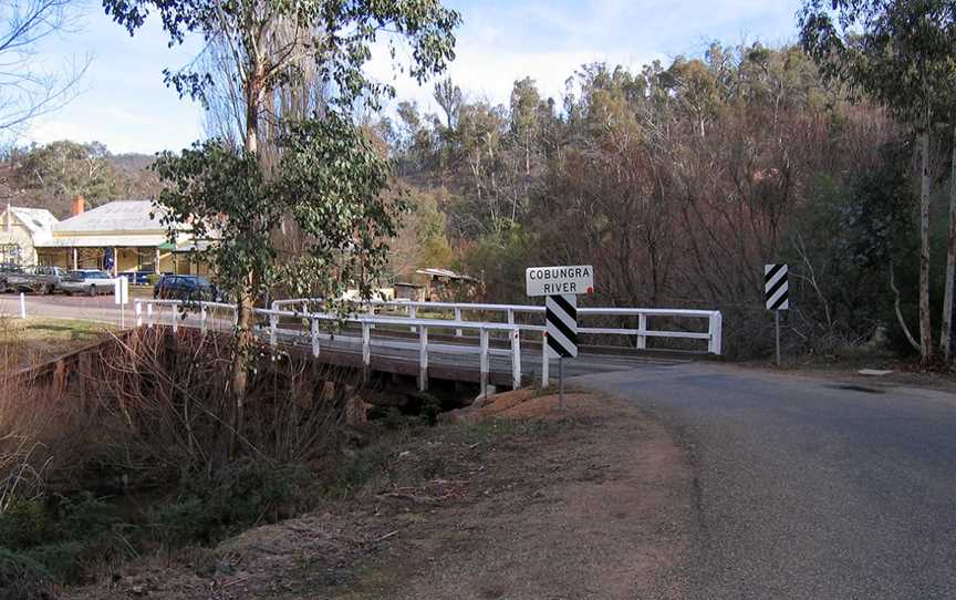
[[[301,308],[302,312],[309,312],[309,307],[319,304],[322,306],[322,300],[319,298],[295,298],[290,300],[276,300],[272,302],[272,310],[281,310],[285,307]],[[398,309],[399,313],[407,319],[416,319],[418,312],[439,312],[449,314],[450,319],[444,320],[446,327],[456,327],[455,335],[461,337],[464,328],[457,328],[454,323],[458,322],[487,322],[488,313],[497,313],[503,318],[503,322],[509,325],[515,325],[524,331],[544,331],[544,307],[529,304],[479,304],[465,302],[416,302],[406,300],[371,300],[367,302],[356,302],[356,308],[360,312],[375,313],[376,309]],[[478,320],[467,319],[468,315],[484,313]],[[520,323],[516,322],[518,314],[540,314],[541,323]],[[579,333],[584,334],[606,334],[606,335],[624,335],[635,338],[635,348],[638,350],[647,349],[647,338],[677,338],[687,340],[704,340],[707,342],[707,352],[710,354],[720,355],[723,353],[721,339],[724,335],[724,320],[719,310],[689,310],[689,309],[640,309],[640,308],[579,308],[578,315],[580,321],[586,321],[589,317],[636,317],[637,329],[607,328],[607,327],[580,327]],[[662,317],[672,319],[707,319],[707,331],[663,331],[648,329],[647,319],[650,317]],[[415,331],[414,323],[407,323],[412,331]]]

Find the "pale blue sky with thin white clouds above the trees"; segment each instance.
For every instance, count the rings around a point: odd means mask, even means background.
[[[19,139],[102,142],[113,153],[178,151],[202,136],[200,107],[163,83],[163,69],[189,62],[198,41],[168,48],[155,21],[135,38],[85,0],[72,31],[48,39],[40,65],[90,60],[81,93],[38,118]],[[584,63],[638,70],[653,60],[700,55],[711,41],[777,45],[797,37],[800,0],[446,0],[458,10],[457,58],[448,74],[472,100],[507,103],[516,80],[531,76],[542,95],[561,97],[564,81]],[[402,99],[428,110],[432,83],[395,76],[383,48],[367,65]],[[399,54],[399,59],[403,56]]]

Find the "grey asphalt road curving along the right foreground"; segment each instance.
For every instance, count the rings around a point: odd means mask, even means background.
[[[573,381],[688,449],[693,598],[956,598],[956,395],[703,363]]]

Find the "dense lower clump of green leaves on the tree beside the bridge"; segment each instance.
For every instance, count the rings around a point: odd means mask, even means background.
[[[287,124],[279,146],[269,178],[254,155],[218,139],[162,154],[154,168],[170,184],[157,201],[164,223],[189,223],[210,242],[198,258],[232,293],[256,297],[278,281],[329,298],[371,290],[405,210],[382,194],[391,165],[334,112]],[[277,236],[293,230],[303,247],[280,255]]]

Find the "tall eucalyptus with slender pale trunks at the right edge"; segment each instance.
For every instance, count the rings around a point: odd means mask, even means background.
[[[919,348],[933,358],[929,318],[929,196],[934,169],[932,136],[948,115],[954,80],[953,0],[806,0],[801,41],[822,72],[859,86],[913,126],[919,136]],[[950,198],[950,251],[942,345],[949,355],[956,196]]]

